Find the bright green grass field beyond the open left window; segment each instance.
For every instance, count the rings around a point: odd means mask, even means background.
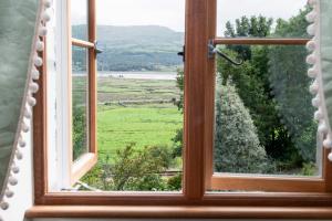
[[[135,143],[144,146],[170,146],[172,138],[183,126],[183,115],[173,104],[131,105],[98,108],[97,144],[100,159],[108,155],[111,159],[116,149]]]

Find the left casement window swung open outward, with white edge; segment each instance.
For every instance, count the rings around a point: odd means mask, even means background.
[[[50,156],[50,187],[72,189],[97,161],[95,1],[59,2],[56,10],[65,19],[59,20],[63,23],[55,33],[61,62],[52,78],[56,80],[56,128],[50,130],[56,138],[48,152],[56,156]]]

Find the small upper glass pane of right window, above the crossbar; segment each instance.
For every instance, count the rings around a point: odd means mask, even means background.
[[[304,14],[309,10],[307,0],[218,0],[217,35],[228,38],[307,36],[308,24]],[[299,14],[302,17],[298,18]],[[291,28],[290,30],[279,29],[293,24],[302,25],[297,32]]]

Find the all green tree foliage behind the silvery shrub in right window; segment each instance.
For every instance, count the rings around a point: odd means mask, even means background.
[[[308,9],[301,10],[298,15],[289,21],[279,19],[273,32],[271,31],[271,19],[242,17],[236,21],[236,28],[228,22],[225,34],[227,36],[259,38],[307,36],[305,28],[308,23],[304,18],[307,12]],[[307,52],[304,48],[235,45],[227,46],[227,49],[230,50],[230,52],[228,51],[229,54],[241,56],[246,62],[242,66],[235,67],[224,61],[218,61],[218,72],[222,76],[224,84],[231,78],[236,85],[239,96],[245,106],[249,108],[253,123],[258,128],[260,144],[266,148],[268,155],[278,160],[293,161],[294,166],[301,165],[303,159],[313,160],[315,145],[312,144],[312,140],[314,140],[312,135],[314,126],[311,120],[312,108],[308,105],[310,96],[308,95],[309,80],[305,76],[304,56]],[[273,78],[273,76],[276,77]],[[299,85],[294,85],[294,81],[299,81]],[[277,95],[282,95],[283,101],[281,101],[281,96]],[[300,98],[302,95],[304,96]],[[288,108],[291,113],[286,112],[284,107],[289,104],[291,104],[290,106],[297,104],[298,108],[300,107],[299,104],[302,107],[309,107],[309,109],[305,109],[309,110],[307,114],[310,117],[298,116],[299,118],[305,118],[303,124],[307,126],[299,126],[294,120],[294,115],[299,113],[294,105],[293,108]],[[286,124],[291,118],[293,119],[292,123]],[[298,134],[294,134],[295,130]]]

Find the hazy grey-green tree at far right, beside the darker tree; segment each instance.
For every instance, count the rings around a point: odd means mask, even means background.
[[[274,36],[308,38],[305,14],[309,7],[289,21],[279,19]],[[303,46],[269,48],[269,83],[276,108],[286,125],[294,146],[305,160],[315,160],[317,123],[309,93],[311,80],[307,76],[307,50]]]

